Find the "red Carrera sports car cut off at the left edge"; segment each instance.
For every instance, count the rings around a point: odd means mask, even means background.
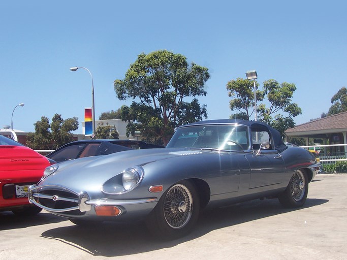
[[[35,215],[42,209],[29,204],[28,187],[40,181],[53,160],[0,135],[0,211]]]

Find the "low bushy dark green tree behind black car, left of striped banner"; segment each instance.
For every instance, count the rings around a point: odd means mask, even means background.
[[[48,118],[42,116],[41,121],[34,123],[35,133],[28,133],[26,144],[32,149],[55,150],[73,141],[70,132],[77,130],[78,124],[77,117],[64,120],[55,114],[50,124]]]

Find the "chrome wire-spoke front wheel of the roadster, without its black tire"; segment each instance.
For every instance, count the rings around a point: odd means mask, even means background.
[[[164,200],[164,218],[173,229],[181,229],[191,219],[193,196],[182,184],[176,184],[167,192]]]

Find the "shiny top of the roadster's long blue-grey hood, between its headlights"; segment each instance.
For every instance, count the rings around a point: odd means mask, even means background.
[[[122,151],[109,155],[79,158],[60,163],[59,169],[43,179],[39,185],[60,185],[69,187],[75,191],[100,190],[105,181],[130,167],[143,167],[158,160],[210,152],[190,149],[157,148]]]

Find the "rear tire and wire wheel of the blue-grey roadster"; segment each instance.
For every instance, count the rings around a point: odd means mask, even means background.
[[[278,200],[285,208],[298,208],[305,204],[307,193],[307,174],[303,170],[297,170],[289,181],[286,190],[279,194]]]

